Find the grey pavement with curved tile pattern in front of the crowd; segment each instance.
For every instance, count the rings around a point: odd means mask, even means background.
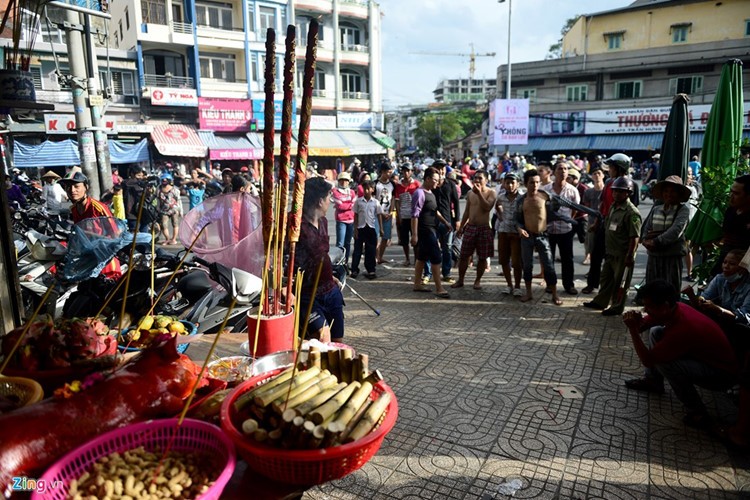
[[[387,257],[403,256],[391,247]],[[619,317],[584,309],[585,295],[563,294],[556,307],[539,280],[522,304],[501,293],[497,271],[483,290],[453,289],[449,300],[412,292],[411,269],[395,264],[349,281],[381,316],[347,291],[345,341],[383,372],[399,418],[365,467],[305,498],[501,499],[519,485],[512,498],[750,495],[747,456],[686,428],[670,390],[623,386],[640,368]],[[220,354],[246,339],[227,335]],[[201,359],[210,341],[190,354]],[[727,395],[703,395],[714,415],[736,419]]]

